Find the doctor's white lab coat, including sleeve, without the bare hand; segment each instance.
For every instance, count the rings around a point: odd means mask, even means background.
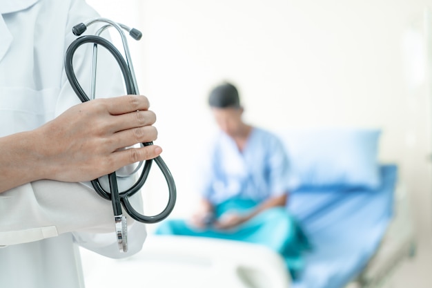
[[[72,26],[98,15],[84,0],[1,0],[0,13],[1,137],[37,128],[79,103],[63,57],[76,38]],[[90,46],[76,52],[81,81],[90,79]],[[118,69],[113,60],[101,62]],[[122,85],[110,86],[117,72],[101,68],[98,76],[105,81],[99,94],[124,94]],[[120,253],[111,204],[86,184],[24,184],[0,193],[0,212],[0,287],[84,287],[77,244],[120,258],[139,251],[146,238],[144,224],[128,225],[129,251]]]

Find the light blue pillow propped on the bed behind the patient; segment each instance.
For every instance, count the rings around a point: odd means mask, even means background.
[[[290,186],[380,186],[381,131],[361,128],[306,128],[279,131],[291,163]]]

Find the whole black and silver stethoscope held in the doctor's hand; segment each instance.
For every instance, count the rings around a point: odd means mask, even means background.
[[[68,50],[66,51],[65,70],[70,85],[72,86],[73,90],[75,91],[79,99],[81,99],[81,102],[87,102],[90,101],[90,99],[95,99],[97,46],[101,45],[111,53],[111,55],[116,59],[117,63],[119,64],[121,73],[123,74],[124,77],[127,94],[138,95],[139,92],[138,92],[137,80],[135,78],[135,71],[133,70],[132,61],[130,61],[128,41],[126,39],[126,35],[123,32],[123,30],[129,32],[129,35],[135,40],[141,39],[141,32],[139,32],[135,28],[128,28],[128,26],[104,18],[92,19],[87,23],[79,23],[78,25],[72,28],[72,32],[74,33],[74,35],[80,36],[82,33],[86,31],[88,26],[97,22],[106,23],[106,25],[99,28],[99,30],[97,30],[95,35],[84,35],[75,39],[75,41],[73,41],[72,44],[70,44]],[[117,48],[115,48],[115,46],[110,41],[100,36],[101,32],[103,32],[104,30],[110,27],[116,28],[116,30],[119,32],[119,35],[121,36],[121,41],[123,44],[126,60],[124,59],[123,55],[121,55],[119,50],[117,50]],[[79,46],[88,43],[93,44],[90,98],[86,95],[86,92],[79,84],[77,77],[75,75],[75,71],[73,70],[72,67],[72,58],[75,51]],[[141,145],[142,146],[153,145],[153,142],[146,142],[146,143],[142,143]],[[168,184],[169,199],[165,209],[161,211],[161,213],[153,216],[147,216],[147,215],[142,215],[132,207],[132,204],[130,203],[130,197],[135,193],[137,193],[146,182],[153,160],[155,160],[157,166],[159,166],[159,169],[164,174],[165,180]],[[95,179],[91,181],[91,184],[95,189],[95,191],[102,198],[106,200],[111,200],[112,202],[112,210],[114,212],[114,220],[115,220],[115,232],[117,235],[117,244],[119,246],[120,251],[124,251],[124,252],[128,251],[126,216],[123,215],[121,211],[122,206],[126,210],[126,212],[130,215],[130,217],[143,223],[155,223],[164,220],[174,209],[175,200],[176,200],[176,189],[175,189],[173,176],[171,175],[164,160],[162,160],[160,156],[156,157],[153,160],[147,160],[144,162],[145,164],[144,167],[142,167],[141,175],[139,175],[139,179],[137,180],[137,182],[135,182],[135,184],[133,184],[126,191],[119,191],[117,185],[117,177],[128,177],[133,173],[136,173],[137,171],[139,171],[139,169],[141,169],[143,162],[140,162],[135,167],[135,169],[133,169],[133,171],[124,173],[124,175],[116,175],[115,172],[108,174],[108,182],[110,186],[109,191],[106,191],[101,186],[99,179]]]

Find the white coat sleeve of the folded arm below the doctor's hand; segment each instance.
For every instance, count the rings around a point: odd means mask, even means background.
[[[132,181],[119,180],[121,190]],[[39,180],[1,193],[0,198],[3,213],[0,246],[73,232],[77,244],[104,256],[119,258],[137,253],[146,239],[146,226],[125,214],[129,251],[119,253],[111,202],[86,184]],[[141,211],[139,193],[132,196],[131,202]]]

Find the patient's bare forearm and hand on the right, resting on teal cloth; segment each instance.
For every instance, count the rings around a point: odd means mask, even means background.
[[[262,204],[259,204],[255,209],[253,209],[253,211],[251,211],[251,213],[246,215],[233,212],[225,213],[217,220],[217,222],[215,222],[215,227],[218,229],[230,229],[236,227],[239,224],[250,220],[255,215],[258,215],[266,209],[273,207],[284,207],[287,199],[288,193],[269,198],[268,200],[262,202]]]

